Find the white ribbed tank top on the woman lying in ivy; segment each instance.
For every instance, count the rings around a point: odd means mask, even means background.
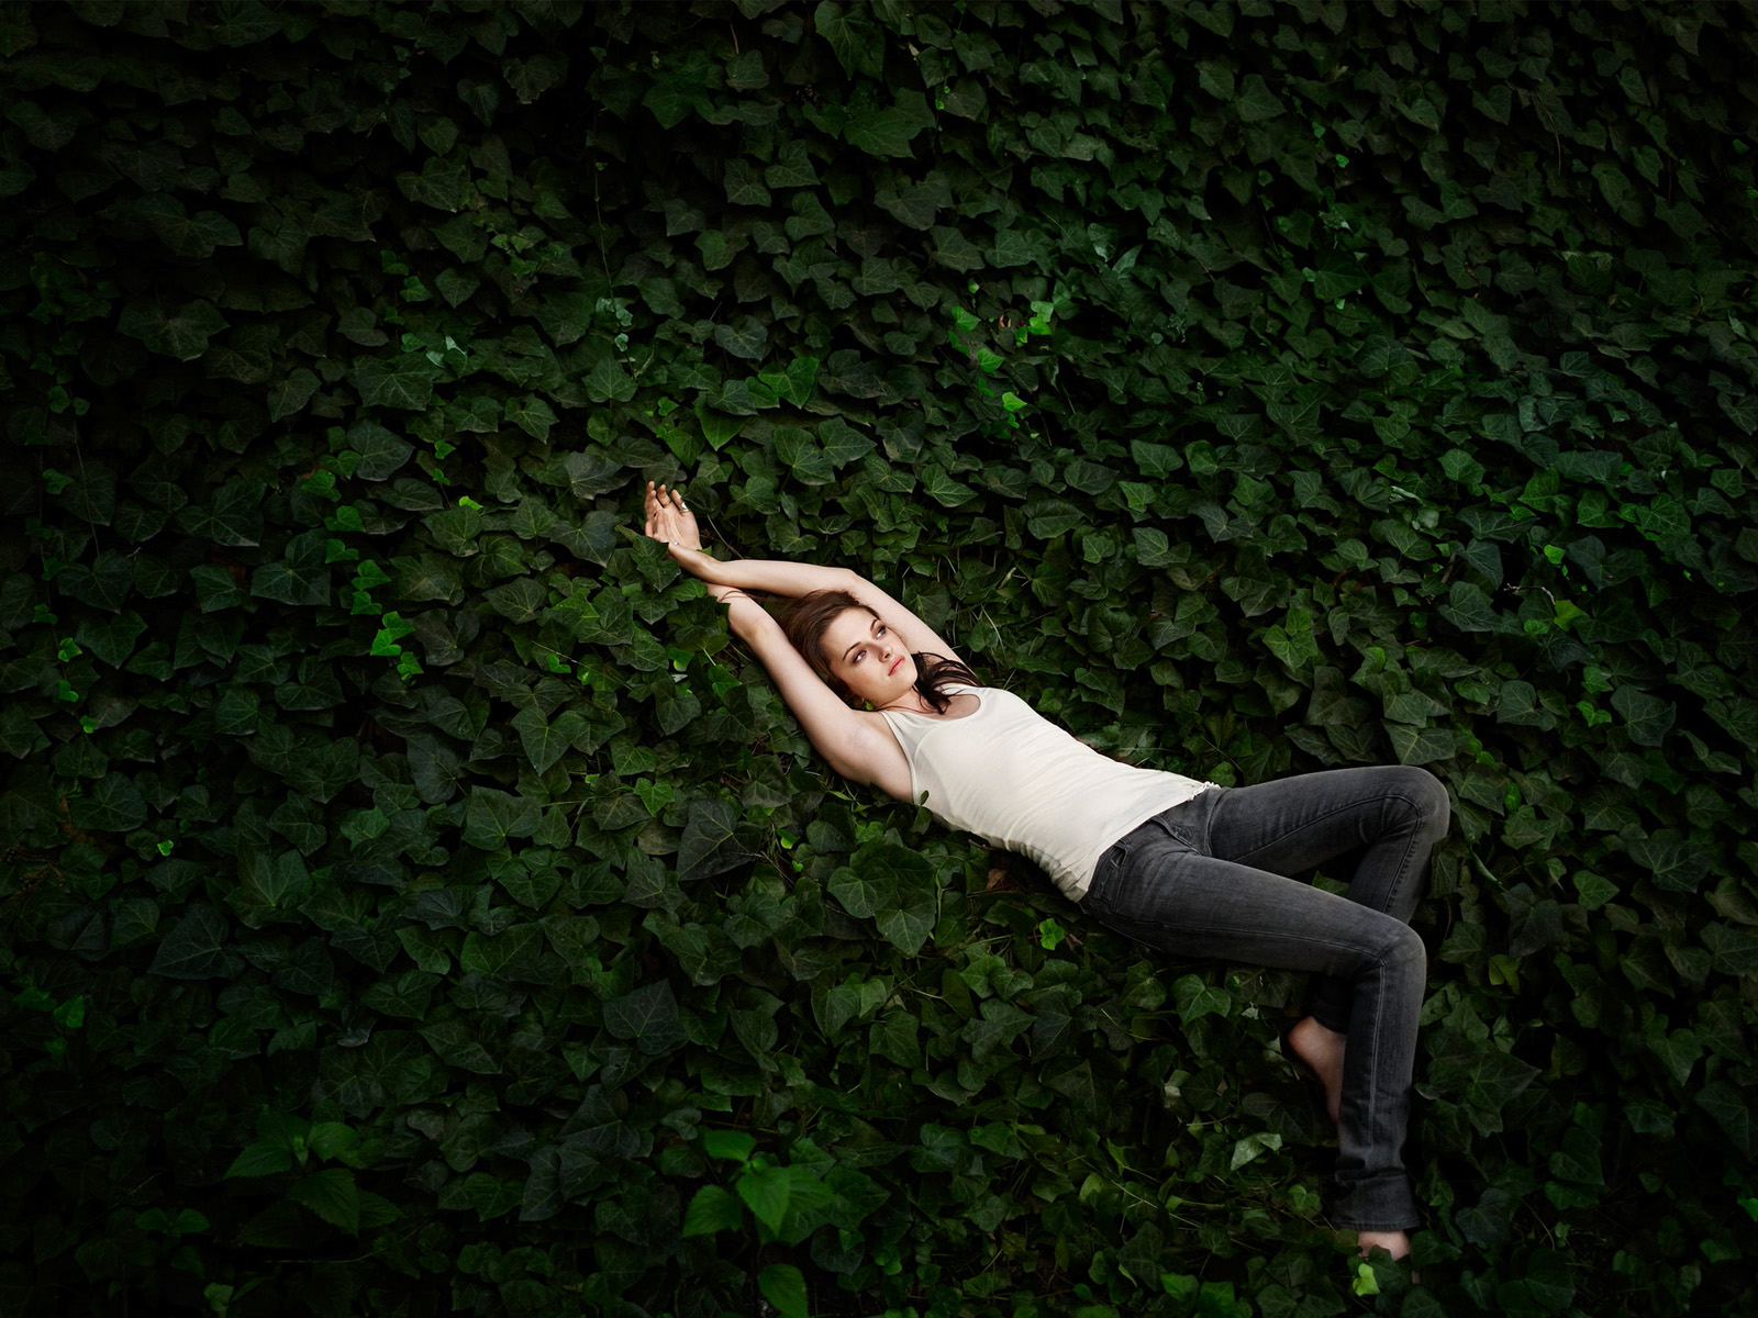
[[[1074,902],[1113,842],[1217,786],[1101,756],[1009,691],[956,691],[977,698],[974,713],[881,710],[904,747],[916,803],[948,828],[1035,861]]]

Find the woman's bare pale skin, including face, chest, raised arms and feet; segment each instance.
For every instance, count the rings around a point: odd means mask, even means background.
[[[976,706],[972,696],[955,696],[946,713],[939,713],[916,691],[914,654],[960,659],[958,652],[902,603],[846,568],[782,559],[714,559],[703,552],[696,515],[679,490],[649,482],[645,513],[643,531],[663,541],[672,559],[726,605],[733,634],[756,652],[825,763],[846,778],[870,782],[907,801],[909,763],[879,710],[909,710],[930,719],[970,713]],[[844,703],[747,590],[786,599],[814,590],[847,590],[865,605],[861,610],[844,612],[830,624],[825,633],[825,663],[872,710]],[[1324,1084],[1326,1109],[1334,1123],[1343,1095],[1343,1035],[1308,1016],[1287,1039],[1294,1054]],[[1362,1255],[1375,1248],[1385,1249],[1392,1258],[1410,1253],[1405,1232],[1359,1232],[1357,1241]]]

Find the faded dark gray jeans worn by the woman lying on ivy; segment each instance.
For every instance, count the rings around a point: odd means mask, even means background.
[[[1352,1230],[1419,1225],[1403,1142],[1427,958],[1406,921],[1447,819],[1420,768],[1217,787],[1120,838],[1081,902],[1174,956],[1315,974],[1310,1012],[1347,1035],[1327,1211]],[[1285,877],[1350,851],[1347,898]]]

